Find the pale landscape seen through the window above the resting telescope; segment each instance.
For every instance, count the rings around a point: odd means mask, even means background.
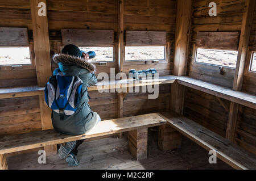
[[[164,60],[165,47],[125,47],[126,61]]]

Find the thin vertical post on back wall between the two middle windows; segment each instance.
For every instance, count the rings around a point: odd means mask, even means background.
[[[123,45],[123,0],[118,1],[118,71],[123,72],[124,45]],[[123,92],[118,93],[118,118],[123,117]],[[123,133],[119,133],[122,138]]]

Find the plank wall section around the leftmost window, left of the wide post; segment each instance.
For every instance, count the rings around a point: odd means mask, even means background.
[[[33,43],[30,1],[0,1],[0,27],[28,28]],[[33,47],[33,46],[31,46]],[[31,49],[33,55],[33,49]],[[34,56],[32,60],[34,63]],[[0,67],[0,87],[36,85],[35,66]],[[42,128],[38,96],[0,100],[0,135],[18,134]]]

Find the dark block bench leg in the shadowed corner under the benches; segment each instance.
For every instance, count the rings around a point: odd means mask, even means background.
[[[159,126],[158,146],[162,151],[179,148],[181,145],[181,134],[170,125]]]

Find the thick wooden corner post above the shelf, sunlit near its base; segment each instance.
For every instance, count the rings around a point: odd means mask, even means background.
[[[177,76],[186,75],[191,7],[191,0],[177,1],[174,53],[174,75]]]

